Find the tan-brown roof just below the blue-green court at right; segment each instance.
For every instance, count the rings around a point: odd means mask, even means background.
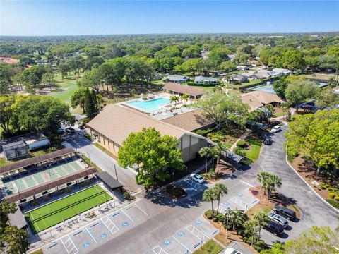
[[[283,99],[280,99],[278,95],[273,95],[270,92],[253,91],[242,95],[242,102],[249,104],[251,110],[256,110],[259,107],[263,107],[265,104],[272,102],[283,103]]]

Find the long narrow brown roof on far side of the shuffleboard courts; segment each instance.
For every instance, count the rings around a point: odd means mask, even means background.
[[[59,156],[62,156],[62,155],[68,155],[71,152],[74,152],[73,147],[66,147],[66,148],[61,149],[61,150],[49,152],[45,155],[40,155],[40,156],[37,156],[37,157],[28,158],[28,159],[23,159],[23,160],[20,160],[19,162],[9,164],[9,165],[6,165],[4,167],[0,167],[0,173],[3,174],[3,173],[6,173],[8,171],[15,170],[15,169],[28,167],[30,165],[37,164],[38,162],[44,162],[47,159],[53,159],[53,158],[56,158],[56,157],[59,157]]]

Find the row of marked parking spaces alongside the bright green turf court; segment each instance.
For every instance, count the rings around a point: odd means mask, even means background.
[[[43,252],[51,254],[88,253],[109,238],[114,238],[148,219],[148,214],[139,205],[133,204],[107,214],[107,216],[83,226],[77,231],[59,238],[46,246]]]

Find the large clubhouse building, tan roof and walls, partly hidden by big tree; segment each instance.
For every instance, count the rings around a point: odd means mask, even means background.
[[[129,133],[141,131],[143,127],[153,127],[162,135],[177,138],[180,141],[178,148],[182,151],[184,162],[196,158],[201,147],[207,145],[207,138],[201,135],[117,104],[108,104],[87,125],[90,128],[90,135],[97,138],[100,145],[116,156]]]

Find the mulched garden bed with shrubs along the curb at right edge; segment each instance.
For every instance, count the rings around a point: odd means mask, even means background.
[[[335,200],[335,196],[339,197],[339,181],[338,179],[328,179],[326,176],[317,176],[316,169],[312,167],[311,162],[307,162],[304,158],[298,156],[293,159],[291,163],[292,167],[297,171],[299,176],[302,176],[302,179],[307,181],[309,186],[318,193],[321,198],[324,200],[333,200],[333,202],[329,202],[333,207],[338,209],[339,200]],[[316,181],[319,183],[319,186],[313,184]],[[330,194],[333,193],[333,194]],[[336,198],[338,199],[338,198]],[[335,205],[335,203],[337,203]]]

